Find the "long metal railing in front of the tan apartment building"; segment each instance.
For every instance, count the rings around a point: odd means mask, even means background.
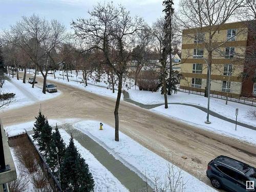
[[[178,91],[184,92],[184,93],[191,93],[191,94],[197,94],[197,95],[204,95],[204,90],[201,89],[193,89],[193,88],[180,88],[178,87]],[[216,91],[210,91],[210,97],[218,98],[218,99],[224,99],[226,100],[227,94],[226,93],[220,93]],[[228,95],[228,101],[232,102],[238,102],[241,104],[247,104],[251,106],[256,106],[256,99],[253,98],[247,98],[247,97],[241,97],[241,96],[235,96],[235,95]]]

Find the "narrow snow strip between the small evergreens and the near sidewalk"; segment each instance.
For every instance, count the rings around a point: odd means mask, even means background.
[[[64,142],[69,144],[70,135],[64,131],[59,130]],[[89,165],[90,172],[95,181],[95,192],[125,192],[127,190],[120,181],[109,172],[86,148],[84,148],[78,141],[74,139],[75,146],[81,157],[84,158]]]

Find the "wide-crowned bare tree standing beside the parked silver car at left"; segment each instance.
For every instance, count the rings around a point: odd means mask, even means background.
[[[4,40],[23,49],[44,77],[42,93],[46,93],[49,56],[65,39],[65,27],[51,20],[48,22],[37,15],[23,16],[22,20],[4,32]]]

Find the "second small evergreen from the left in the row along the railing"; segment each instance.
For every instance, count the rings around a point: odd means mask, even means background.
[[[47,158],[50,152],[50,145],[52,141],[52,127],[46,119],[45,126],[41,129],[41,134],[38,139],[39,151]]]

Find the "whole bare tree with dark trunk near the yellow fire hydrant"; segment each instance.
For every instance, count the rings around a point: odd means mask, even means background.
[[[124,7],[112,4],[98,4],[89,11],[90,18],[79,18],[72,23],[75,35],[87,43],[88,49],[98,49],[104,53],[106,63],[118,77],[118,93],[115,105],[115,141],[119,141],[119,104],[123,77],[127,61],[131,56],[134,34],[142,29],[143,20],[132,18]],[[111,57],[110,45],[113,43],[116,56]]]

